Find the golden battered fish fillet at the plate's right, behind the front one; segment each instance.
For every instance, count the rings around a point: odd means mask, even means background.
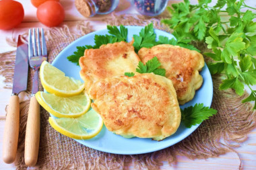
[[[203,83],[199,71],[204,66],[204,60],[203,56],[195,50],[161,44],[152,48],[141,48],[138,54],[143,63],[154,56],[158,58],[161,67],[166,69],[166,77],[173,83],[181,105],[193,99],[195,90],[199,89]]]

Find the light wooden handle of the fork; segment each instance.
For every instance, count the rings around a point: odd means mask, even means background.
[[[34,166],[37,162],[40,140],[40,105],[36,97],[30,99],[25,138],[25,163]]]

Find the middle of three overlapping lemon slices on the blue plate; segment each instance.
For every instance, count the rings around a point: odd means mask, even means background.
[[[59,97],[38,91],[36,99],[45,110],[57,118],[77,118],[85,114],[91,105],[91,99],[85,92],[73,97]]]

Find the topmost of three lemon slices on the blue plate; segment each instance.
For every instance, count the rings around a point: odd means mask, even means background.
[[[65,73],[46,61],[40,67],[40,79],[46,91],[61,97],[78,95],[84,90],[82,81],[65,76]]]

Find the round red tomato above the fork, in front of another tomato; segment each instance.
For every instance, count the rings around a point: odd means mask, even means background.
[[[37,8],[36,16],[42,24],[48,27],[59,26],[64,20],[65,11],[61,3],[46,1]]]

